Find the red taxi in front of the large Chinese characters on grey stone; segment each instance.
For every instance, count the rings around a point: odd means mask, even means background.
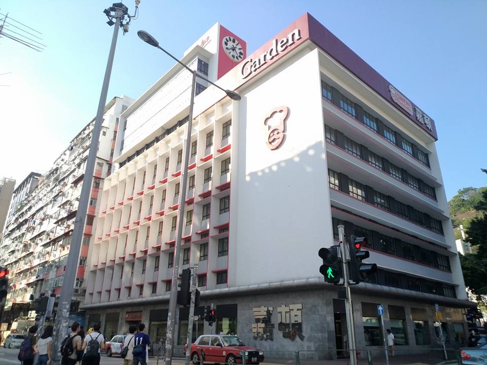
[[[187,346],[184,345],[186,354]],[[246,364],[258,364],[264,361],[264,352],[246,346],[236,336],[202,335],[190,346],[190,357],[193,364],[220,362],[233,365],[242,362],[241,352],[245,353]]]

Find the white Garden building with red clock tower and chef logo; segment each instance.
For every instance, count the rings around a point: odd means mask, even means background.
[[[199,265],[195,314],[214,303],[217,333],[264,351],[345,348],[344,301],[318,257],[343,224],[368,238],[378,266],[352,288],[357,347],[381,348],[379,303],[398,352],[439,346],[440,328],[447,347],[464,345],[471,303],[433,119],[309,14],[248,57],[216,24],[182,61],[242,98],[198,80],[181,217],[190,72],[176,64],[122,114],[90,246],[88,322],[110,335],[142,321],[152,340],[165,336],[183,219],[180,268]],[[183,345],[188,309],[177,318]]]

